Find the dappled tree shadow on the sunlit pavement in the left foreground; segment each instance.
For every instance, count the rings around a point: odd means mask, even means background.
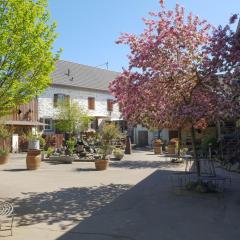
[[[15,224],[28,226],[39,223],[52,225],[61,221],[74,222],[89,217],[128,190],[130,185],[110,184],[100,187],[64,188],[45,193],[24,193],[26,197],[11,201],[15,209]],[[66,225],[61,226],[62,229]]]

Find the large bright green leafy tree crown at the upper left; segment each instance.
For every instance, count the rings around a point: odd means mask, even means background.
[[[38,96],[51,83],[59,52],[47,0],[0,0],[0,115]]]

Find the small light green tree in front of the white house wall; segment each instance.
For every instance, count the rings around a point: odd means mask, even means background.
[[[59,104],[55,119],[56,129],[71,135],[86,130],[91,121],[91,117],[77,102]]]

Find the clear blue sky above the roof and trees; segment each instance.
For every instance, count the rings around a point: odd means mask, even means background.
[[[176,0],[165,0],[174,7]],[[240,12],[240,0],[178,0],[187,11],[214,25],[225,24]],[[158,11],[158,0],[49,0],[59,37],[55,49],[63,48],[61,59],[90,66],[109,62],[109,69],[127,66],[128,48],[115,44],[121,32],[140,33],[142,17]],[[104,68],[103,66],[102,68]]]

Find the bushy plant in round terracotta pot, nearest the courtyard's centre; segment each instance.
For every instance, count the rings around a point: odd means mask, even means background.
[[[100,148],[98,154],[100,156],[99,159],[95,160],[96,170],[105,170],[109,164],[109,155],[112,153],[113,139],[119,138],[121,132],[115,124],[104,124],[102,131],[100,133]]]

